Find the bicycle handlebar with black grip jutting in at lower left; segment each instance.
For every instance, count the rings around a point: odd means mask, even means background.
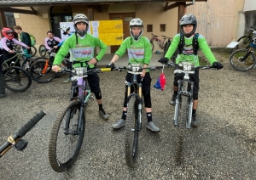
[[[0,147],[0,157],[2,157],[9,149],[11,148],[11,145],[15,145],[16,143],[19,142],[20,138],[26,135],[26,132],[29,132],[32,127],[34,127],[38,121],[40,121],[46,113],[41,110],[37,115],[33,116],[32,119],[28,122],[23,127],[20,127],[20,129],[15,132],[13,136],[10,136],[8,138],[8,141],[3,143],[3,145]]]

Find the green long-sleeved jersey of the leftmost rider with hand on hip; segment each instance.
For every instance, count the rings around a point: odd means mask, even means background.
[[[100,48],[100,52],[97,55],[94,54],[96,47]],[[100,61],[107,48],[107,45],[102,40],[91,34],[86,34],[85,37],[73,34],[62,44],[55,56],[54,65],[60,65],[63,58],[70,52],[71,61],[74,62],[73,67],[86,66],[85,62],[90,61],[94,57],[97,61]],[[93,68],[95,65],[89,65],[89,67]]]

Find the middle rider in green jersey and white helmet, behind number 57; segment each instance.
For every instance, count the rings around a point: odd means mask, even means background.
[[[131,37],[127,37],[124,42],[122,42],[119,50],[115,52],[113,59],[107,67],[113,68],[114,62],[123,56],[126,49],[128,51],[129,61],[128,64],[140,64],[144,68],[147,68],[152,56],[151,45],[147,37],[143,37],[143,21],[140,19],[133,19],[130,22],[130,33]],[[126,120],[126,107],[127,107],[127,83],[132,82],[133,74],[127,72],[125,77],[125,100],[123,106],[123,114],[121,119],[113,124],[113,129],[119,129],[125,126]],[[154,125],[152,121],[152,108],[151,108],[151,97],[150,97],[150,86],[151,77],[149,70],[143,70],[140,76],[138,76],[138,82],[143,83],[143,97],[145,102],[145,109],[148,117],[147,128],[152,132],[160,132],[160,128]]]

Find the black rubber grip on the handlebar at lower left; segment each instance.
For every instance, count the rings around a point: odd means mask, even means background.
[[[41,110],[37,115],[33,116],[32,119],[28,122],[23,127],[20,127],[18,132],[16,134],[21,138],[25,136],[26,132],[29,132],[29,130],[40,121],[46,113]]]

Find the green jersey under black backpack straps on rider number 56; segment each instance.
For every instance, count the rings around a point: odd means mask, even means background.
[[[175,52],[176,48],[178,47],[179,41],[180,41],[180,34],[177,34],[175,35],[175,37],[173,37],[172,44],[169,47],[165,55],[165,58],[171,59],[172,54]],[[207,44],[206,38],[200,34],[198,36],[197,41],[198,41],[199,49],[201,49],[201,52],[207,57],[210,64],[212,65],[213,62],[217,62],[217,60],[215,59],[211,51],[211,48],[209,48]],[[189,61],[194,63],[195,66],[200,66],[198,55],[194,54],[192,42],[193,42],[193,37],[188,38],[184,36],[183,52],[181,54],[177,54],[177,58],[176,58],[177,64],[180,61]]]

